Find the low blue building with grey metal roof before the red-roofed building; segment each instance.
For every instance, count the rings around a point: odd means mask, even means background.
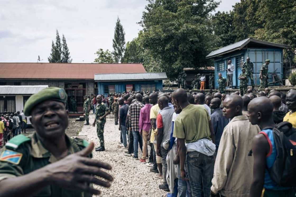
[[[98,83],[98,94],[107,96],[109,93],[123,91],[154,91],[163,89],[163,80],[168,77],[165,72],[145,73],[110,73],[95,74]]]

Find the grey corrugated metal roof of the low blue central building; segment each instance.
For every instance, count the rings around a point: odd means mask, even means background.
[[[108,73],[96,74],[96,81],[131,81],[131,80],[165,80],[168,77],[165,72],[145,72],[145,73]]]

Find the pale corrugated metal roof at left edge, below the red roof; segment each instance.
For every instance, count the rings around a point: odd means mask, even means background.
[[[48,85],[0,85],[0,95],[36,94],[45,88],[48,88]]]

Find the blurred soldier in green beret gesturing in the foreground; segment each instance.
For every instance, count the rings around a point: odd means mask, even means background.
[[[94,143],[65,134],[68,126],[67,94],[50,87],[30,96],[24,114],[31,116],[35,133],[17,135],[0,151],[2,196],[86,197],[99,194],[92,184],[110,187],[94,175],[113,180],[101,170],[111,169],[91,159]],[[86,148],[85,148],[86,147]]]

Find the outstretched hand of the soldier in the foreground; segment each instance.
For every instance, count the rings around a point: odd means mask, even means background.
[[[112,181],[113,177],[101,170],[110,170],[112,167],[96,159],[87,158],[94,149],[94,143],[91,142],[89,146],[83,150],[70,154],[65,158],[54,162],[44,167],[48,173],[48,181],[50,184],[60,185],[71,190],[81,190],[92,194],[100,194],[100,191],[90,186],[90,183],[101,185],[103,187],[110,187],[111,184],[107,181]],[[99,176],[107,181],[100,180],[95,177]]]

